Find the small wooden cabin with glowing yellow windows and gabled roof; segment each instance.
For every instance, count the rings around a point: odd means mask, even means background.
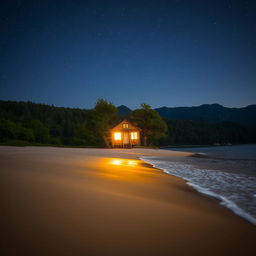
[[[127,120],[111,129],[112,147],[133,147],[140,145],[140,128]]]

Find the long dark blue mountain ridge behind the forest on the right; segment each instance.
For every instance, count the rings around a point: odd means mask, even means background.
[[[155,110],[167,119],[229,121],[256,127],[256,105],[228,108],[219,104],[204,104],[197,107],[161,107]]]

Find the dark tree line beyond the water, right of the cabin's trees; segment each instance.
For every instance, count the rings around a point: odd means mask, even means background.
[[[168,134],[159,144],[213,145],[256,143],[256,128],[234,122],[165,119]]]

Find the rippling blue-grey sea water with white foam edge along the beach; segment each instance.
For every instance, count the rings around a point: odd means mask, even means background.
[[[256,225],[256,145],[171,148],[195,157],[142,157]]]

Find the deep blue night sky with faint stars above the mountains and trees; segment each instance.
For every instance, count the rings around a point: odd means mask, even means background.
[[[256,1],[1,0],[0,99],[256,103]]]

